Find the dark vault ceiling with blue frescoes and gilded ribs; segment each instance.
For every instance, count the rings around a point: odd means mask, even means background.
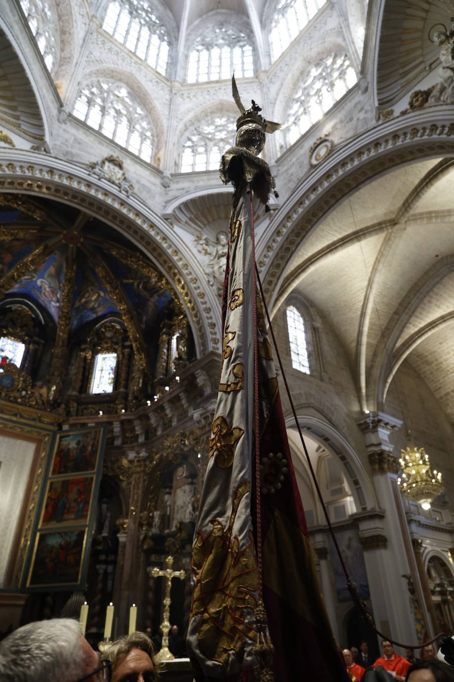
[[[108,316],[121,317],[119,308],[126,304],[152,359],[159,327],[174,314],[175,294],[146,256],[124,235],[76,207],[20,195],[3,194],[1,201],[0,287],[2,281],[10,284],[5,297],[31,300],[58,325],[70,263],[75,269],[71,335],[83,335]],[[25,263],[29,269],[24,274]],[[110,291],[109,277],[104,281],[106,271],[119,287],[120,300],[118,292]]]

